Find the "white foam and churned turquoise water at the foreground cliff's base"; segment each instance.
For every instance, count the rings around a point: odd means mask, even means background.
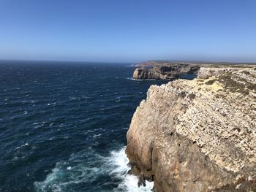
[[[46,179],[35,182],[36,191],[151,191],[154,183],[146,181],[146,187],[138,188],[138,178],[129,171],[125,147],[112,151],[108,156],[94,150],[71,155],[68,161],[56,164]]]

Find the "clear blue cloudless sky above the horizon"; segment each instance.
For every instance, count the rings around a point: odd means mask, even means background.
[[[0,0],[0,59],[256,62],[256,1]]]

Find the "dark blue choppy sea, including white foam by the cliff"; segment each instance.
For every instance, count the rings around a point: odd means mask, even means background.
[[[127,175],[126,133],[165,81],[127,65],[1,61],[0,191],[151,191]]]

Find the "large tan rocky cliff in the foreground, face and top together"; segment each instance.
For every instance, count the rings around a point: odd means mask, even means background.
[[[127,133],[132,173],[161,191],[256,191],[256,68],[152,85]]]

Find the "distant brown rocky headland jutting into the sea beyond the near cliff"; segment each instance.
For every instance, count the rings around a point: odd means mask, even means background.
[[[133,78],[137,80],[173,80],[180,74],[195,74],[200,69],[199,65],[194,64],[169,64],[153,66],[148,69],[140,67],[135,69]]]

